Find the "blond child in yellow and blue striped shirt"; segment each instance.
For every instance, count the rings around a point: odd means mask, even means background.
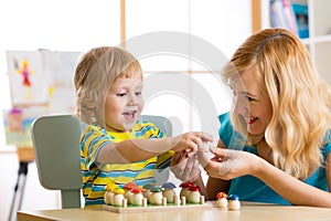
[[[203,133],[166,138],[152,123],[139,120],[142,71],[122,49],[92,49],[79,61],[74,81],[77,116],[88,125],[81,137],[86,208],[105,203],[107,183],[156,183],[156,169],[170,166],[173,151],[190,155],[202,140],[212,140]]]

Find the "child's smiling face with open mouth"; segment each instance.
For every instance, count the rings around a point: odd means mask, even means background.
[[[106,128],[111,131],[129,131],[143,107],[142,80],[118,77],[108,91],[105,104]]]

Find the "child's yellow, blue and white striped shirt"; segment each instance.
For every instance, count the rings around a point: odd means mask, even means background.
[[[100,208],[104,204],[105,186],[114,182],[119,187],[135,182],[142,187],[156,183],[156,169],[170,166],[172,150],[139,162],[96,166],[96,158],[109,143],[126,139],[163,138],[166,134],[148,122],[137,122],[130,133],[114,133],[97,125],[88,125],[81,137],[81,168],[85,208]],[[157,148],[157,147],[156,147]]]

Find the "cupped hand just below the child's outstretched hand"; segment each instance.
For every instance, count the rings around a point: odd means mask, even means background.
[[[170,169],[182,181],[194,182],[201,173],[196,155],[189,157],[185,150],[174,152]]]

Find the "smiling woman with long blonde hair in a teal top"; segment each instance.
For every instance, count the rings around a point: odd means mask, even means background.
[[[200,150],[217,192],[241,200],[331,208],[331,90],[307,48],[288,30],[248,38],[223,70],[234,94],[220,116],[212,160]]]

